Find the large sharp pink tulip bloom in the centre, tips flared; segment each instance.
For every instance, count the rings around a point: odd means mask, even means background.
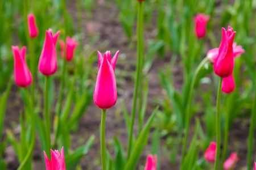
[[[98,52],[98,76],[94,88],[94,103],[101,109],[113,107],[117,101],[117,83],[115,82],[115,63],[119,50],[111,59],[110,51],[102,57]]]

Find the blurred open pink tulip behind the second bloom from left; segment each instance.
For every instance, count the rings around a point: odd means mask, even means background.
[[[67,45],[65,46],[65,42],[63,40],[59,40],[60,42],[60,47],[61,47],[61,57],[63,58],[65,53],[64,53],[64,49],[66,48],[66,56],[67,56],[67,61],[71,61],[71,59],[74,56],[74,50],[76,48],[76,46],[78,45],[78,42],[76,42],[75,38],[70,38],[67,37],[66,42]]]

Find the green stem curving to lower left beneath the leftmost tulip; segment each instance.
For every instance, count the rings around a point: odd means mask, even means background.
[[[31,139],[30,139],[30,148],[28,149],[28,152],[25,156],[25,158],[22,160],[22,163],[19,165],[19,168],[17,170],[22,170],[24,168],[24,166],[27,164],[29,158],[31,158],[33,151],[34,151],[34,147],[35,147],[35,141],[36,141],[36,131],[35,131],[35,111],[34,111],[34,105],[32,104],[32,97],[30,97],[30,94],[27,90],[27,88],[25,88],[26,91],[26,98],[28,101],[28,111],[30,111],[30,119],[31,119]]]

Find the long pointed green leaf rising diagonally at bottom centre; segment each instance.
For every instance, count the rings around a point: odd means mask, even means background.
[[[125,168],[124,168],[125,170],[136,168],[137,162],[139,160],[139,156],[141,156],[144,146],[147,145],[148,133],[150,131],[151,124],[154,120],[155,114],[158,112],[158,108],[159,107],[155,108],[154,112],[148,118],[146,125],[144,125],[141,131],[141,134],[139,134],[139,137],[133,147],[133,151],[131,152],[130,158],[129,160],[127,160],[127,163],[125,165]]]

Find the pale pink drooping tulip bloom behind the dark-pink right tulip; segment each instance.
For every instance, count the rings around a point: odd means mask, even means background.
[[[245,53],[245,50],[242,48],[241,45],[237,46],[237,43],[233,43],[233,56],[240,57],[242,53]],[[218,57],[218,50],[219,48],[210,49],[207,53],[207,58],[209,58],[210,63],[214,63],[216,58]]]

